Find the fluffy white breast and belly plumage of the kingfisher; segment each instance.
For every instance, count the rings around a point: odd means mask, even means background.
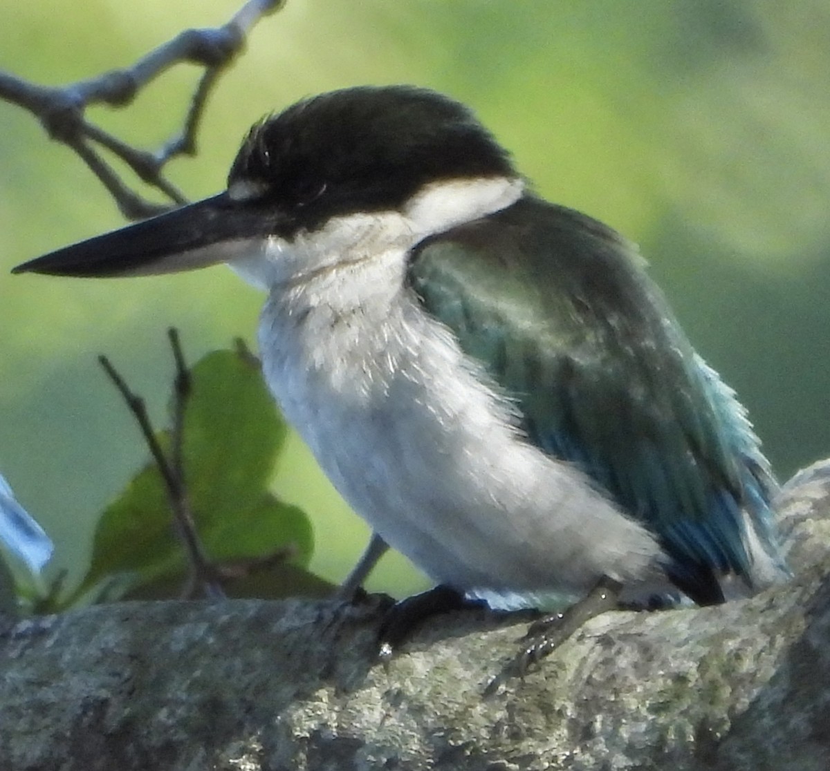
[[[471,594],[654,579],[652,536],[522,439],[510,401],[402,271],[394,253],[340,266],[273,289],[262,312],[266,380],[349,505],[432,579]]]

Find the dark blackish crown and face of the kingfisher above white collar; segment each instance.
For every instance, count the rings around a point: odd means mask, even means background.
[[[228,177],[314,230],[331,216],[394,211],[430,182],[515,176],[469,109],[413,86],[315,96],[257,124]]]

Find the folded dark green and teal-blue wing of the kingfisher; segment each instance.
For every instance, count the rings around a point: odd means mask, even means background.
[[[721,601],[719,574],[751,584],[742,511],[777,553],[745,411],[613,230],[527,197],[422,242],[408,282],[516,401],[529,441],[657,534],[692,599]]]

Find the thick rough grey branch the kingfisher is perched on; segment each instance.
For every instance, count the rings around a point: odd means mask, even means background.
[[[830,461],[785,488],[796,577],[606,613],[496,696],[524,623],[439,618],[388,666],[378,607],[123,603],[0,631],[2,771],[830,769]]]

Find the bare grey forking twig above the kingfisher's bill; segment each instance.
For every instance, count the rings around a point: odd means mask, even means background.
[[[40,119],[51,138],[74,150],[110,192],[127,219],[139,220],[168,211],[186,203],[187,198],[164,177],[165,165],[178,155],[196,153],[196,136],[213,85],[242,51],[251,28],[261,17],[281,7],[282,2],[247,0],[222,27],[181,32],[131,67],[60,88],[30,83],[0,70],[0,99],[29,110]],[[181,131],[159,150],[134,148],[85,119],[85,110],[90,104],[112,107],[130,104],[151,80],[182,62],[201,65],[205,71],[193,93]],[[120,158],[140,180],[162,192],[172,204],[148,201],[131,190],[105,161],[99,148]]]

